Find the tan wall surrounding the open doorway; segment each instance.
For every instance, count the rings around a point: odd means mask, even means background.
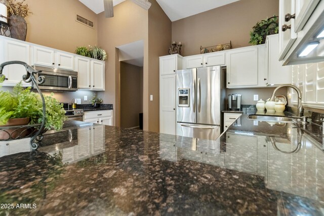
[[[148,85],[148,12],[131,1],[125,1],[114,7],[114,17],[105,18],[104,13],[98,14],[98,45],[106,50],[108,60],[105,64],[105,91],[99,92],[105,103],[114,106],[114,125],[120,125],[120,65],[116,47],[130,42],[144,40],[143,66],[143,100],[147,97]],[[145,94],[146,93],[146,94]],[[146,98],[145,98],[146,97]],[[143,106],[144,129],[148,129],[148,105]],[[147,121],[145,123],[145,121]]]

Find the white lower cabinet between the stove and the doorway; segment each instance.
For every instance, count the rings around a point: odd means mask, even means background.
[[[112,126],[112,110],[87,111],[83,121]]]

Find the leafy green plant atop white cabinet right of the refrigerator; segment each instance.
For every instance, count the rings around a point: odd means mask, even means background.
[[[257,22],[253,26],[252,31],[250,31],[251,39],[249,41],[252,45],[264,44],[267,35],[277,34],[279,30],[278,27],[278,17],[273,15],[273,17],[266,18]]]

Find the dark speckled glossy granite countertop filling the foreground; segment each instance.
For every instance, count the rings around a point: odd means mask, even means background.
[[[1,145],[0,215],[322,215],[321,127],[247,116],[216,141],[71,121]]]

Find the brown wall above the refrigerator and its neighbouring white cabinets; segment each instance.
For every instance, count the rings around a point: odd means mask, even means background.
[[[200,46],[226,44],[230,40],[233,48],[251,46],[252,27],[278,12],[278,0],[241,0],[172,22],[172,41],[182,42],[183,56],[200,54]]]

